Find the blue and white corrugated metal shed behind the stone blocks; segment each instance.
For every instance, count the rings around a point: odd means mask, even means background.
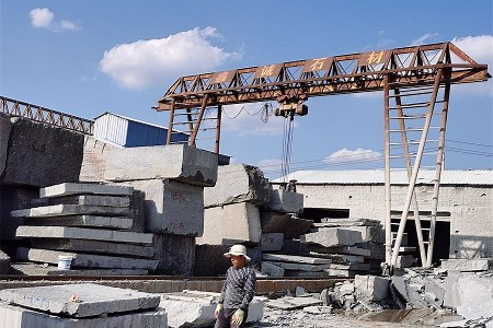
[[[103,113],[94,119],[94,138],[123,147],[165,144],[168,129],[114,113]],[[172,142],[186,142],[188,134],[176,131]]]

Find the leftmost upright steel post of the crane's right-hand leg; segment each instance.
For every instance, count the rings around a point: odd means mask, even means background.
[[[391,199],[390,199],[390,121],[389,121],[389,75],[383,77],[383,127],[385,127],[385,156],[386,156],[386,263],[390,265],[392,256],[391,229]]]

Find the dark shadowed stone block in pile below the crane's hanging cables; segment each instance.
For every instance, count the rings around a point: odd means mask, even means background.
[[[261,212],[260,218],[263,233],[284,233],[286,239],[299,239],[313,223],[312,220],[278,212]]]

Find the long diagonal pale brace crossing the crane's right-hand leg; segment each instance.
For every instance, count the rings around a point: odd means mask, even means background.
[[[391,260],[392,267],[394,267],[397,263],[397,258],[399,256],[399,248],[401,248],[402,235],[404,234],[404,229],[405,229],[405,221],[408,220],[409,208],[411,206],[412,195],[414,192],[414,186],[416,185],[417,174],[420,172],[420,166],[421,166],[421,160],[423,159],[423,152],[424,152],[424,148],[426,144],[426,138],[427,138],[427,134],[429,131],[429,125],[432,122],[433,110],[435,108],[436,95],[438,94],[438,89],[440,86],[443,71],[444,71],[444,69],[442,69],[442,68],[438,69],[437,74],[435,77],[435,84],[433,86],[432,99],[429,101],[429,104],[428,104],[428,112],[426,113],[426,120],[425,120],[425,124],[423,127],[423,132],[421,133],[421,140],[420,140],[420,145],[417,149],[416,160],[414,162],[413,172],[411,174],[411,179],[410,179],[410,184],[408,187],[408,194],[405,197],[404,209],[402,211],[401,221],[399,222],[399,231],[398,231],[395,244],[394,244],[393,250],[392,250],[392,260]]]

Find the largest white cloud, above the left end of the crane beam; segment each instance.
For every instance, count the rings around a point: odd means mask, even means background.
[[[186,74],[210,72],[227,60],[240,58],[214,46],[210,39],[220,39],[215,27],[180,32],[167,38],[122,44],[104,52],[100,70],[128,89],[165,86],[167,80]]]

